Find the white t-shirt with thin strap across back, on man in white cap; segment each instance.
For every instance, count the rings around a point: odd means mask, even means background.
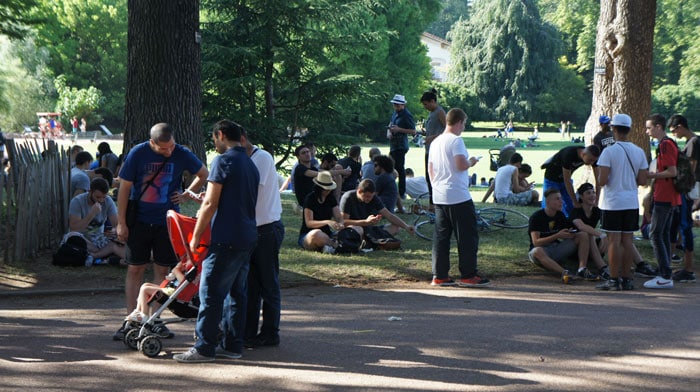
[[[608,183],[600,193],[600,209],[621,211],[639,208],[637,173],[649,168],[644,151],[633,143],[617,142],[603,150],[598,166],[610,168]]]

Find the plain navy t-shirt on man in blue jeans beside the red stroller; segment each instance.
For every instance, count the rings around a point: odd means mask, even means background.
[[[214,158],[209,182],[221,184],[219,205],[211,224],[212,244],[246,250],[258,239],[255,203],[260,173],[244,147],[232,147]]]

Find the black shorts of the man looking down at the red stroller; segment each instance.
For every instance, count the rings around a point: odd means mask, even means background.
[[[177,256],[170,244],[168,227],[136,222],[129,228],[129,239],[126,241],[126,263],[129,265],[144,265],[153,261],[160,266],[174,267]]]

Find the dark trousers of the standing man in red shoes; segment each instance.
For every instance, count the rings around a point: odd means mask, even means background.
[[[477,272],[476,253],[479,250],[479,231],[472,200],[453,205],[435,205],[433,276],[438,279],[447,279],[450,273],[450,240],[453,232],[457,239],[461,278],[471,278]]]

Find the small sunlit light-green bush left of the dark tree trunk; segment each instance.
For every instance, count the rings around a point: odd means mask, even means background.
[[[64,117],[85,118],[90,123],[102,122],[102,118],[97,113],[104,102],[100,90],[93,86],[86,89],[70,87],[66,84],[66,77],[59,75],[56,78],[56,91],[58,92],[56,111]]]

